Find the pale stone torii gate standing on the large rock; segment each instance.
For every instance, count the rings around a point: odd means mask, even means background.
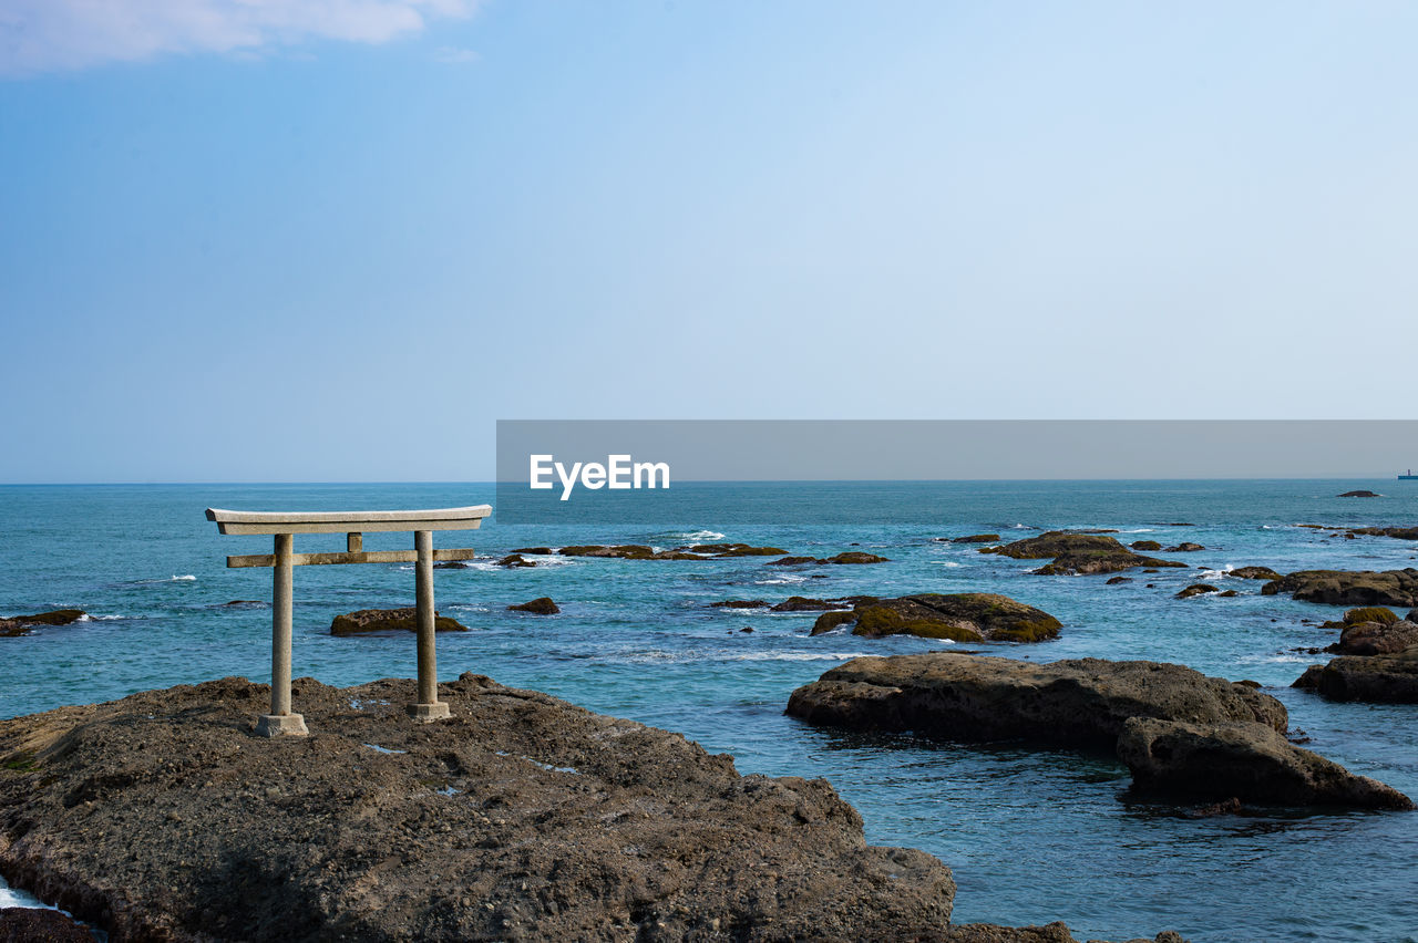
[[[271,714],[262,714],[257,733],[305,736],[305,718],[291,712],[291,568],[322,564],[414,564],[418,600],[418,704],[408,705],[415,721],[448,716],[438,701],[434,654],[434,561],[472,559],[472,549],[434,549],[432,531],[471,531],[492,514],[488,504],[431,511],[224,511],[208,507],[207,520],[223,534],[274,534],[274,554],[228,556],[228,568],[271,566]],[[366,551],[364,534],[413,531],[411,551]],[[295,534],[345,534],[343,554],[294,554]]]

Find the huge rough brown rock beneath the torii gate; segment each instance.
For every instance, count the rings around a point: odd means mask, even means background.
[[[240,678],[0,721],[31,766],[0,763],[0,869],[113,943],[946,932],[950,871],[868,845],[824,780],[478,675],[448,721],[414,697],[298,680],[303,739],[252,736]]]

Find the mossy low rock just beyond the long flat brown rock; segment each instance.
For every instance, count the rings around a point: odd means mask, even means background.
[[[997,593],[917,593],[899,599],[866,598],[851,612],[828,612],[814,636],[852,624],[854,636],[920,636],[954,641],[1044,641],[1059,634],[1058,619]]]

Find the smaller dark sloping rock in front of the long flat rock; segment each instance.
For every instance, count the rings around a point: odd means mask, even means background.
[[[1133,790],[1188,800],[1239,799],[1268,806],[1411,810],[1398,790],[1356,776],[1261,724],[1188,724],[1129,718],[1117,756]]]

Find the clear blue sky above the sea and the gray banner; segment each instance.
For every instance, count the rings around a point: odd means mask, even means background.
[[[486,480],[499,418],[1414,418],[1415,41],[6,0],[0,481]]]

